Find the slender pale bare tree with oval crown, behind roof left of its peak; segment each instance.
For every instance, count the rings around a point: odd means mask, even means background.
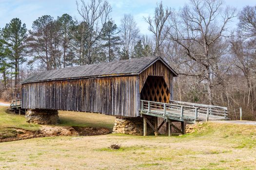
[[[134,17],[131,14],[125,14],[121,19],[120,38],[122,43],[121,59],[129,59],[133,53],[139,37],[139,29]]]

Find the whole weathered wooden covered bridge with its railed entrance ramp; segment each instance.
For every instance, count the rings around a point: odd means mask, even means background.
[[[141,119],[144,135],[147,126],[157,135],[165,122],[170,135],[171,127],[177,128],[172,124],[174,121],[181,122],[182,128],[178,130],[184,133],[184,121],[227,118],[225,107],[173,101],[176,76],[161,57],[42,71],[21,83],[21,108],[44,112],[38,114],[44,117],[51,117],[54,110],[69,110],[102,113],[129,122]],[[116,125],[115,130],[118,128],[126,133],[126,127]]]

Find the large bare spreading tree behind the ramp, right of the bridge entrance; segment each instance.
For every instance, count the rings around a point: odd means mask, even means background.
[[[223,11],[221,0],[190,2],[177,16],[172,16],[174,31],[170,31],[168,36],[186,53],[186,58],[182,61],[190,68],[190,73],[186,75],[200,77],[200,82],[205,82],[208,101],[213,104],[213,87],[223,80],[219,74],[219,61],[226,48],[218,46],[218,43],[223,44],[227,24],[235,17],[236,10],[227,7]]]

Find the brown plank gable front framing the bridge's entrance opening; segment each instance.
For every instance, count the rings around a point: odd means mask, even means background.
[[[161,61],[156,61],[153,65],[139,74],[139,91],[141,92],[148,76],[162,76],[170,92],[170,100],[173,99],[173,73]],[[157,101],[156,101],[157,102]]]

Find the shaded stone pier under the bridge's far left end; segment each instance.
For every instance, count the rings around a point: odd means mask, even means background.
[[[26,120],[36,124],[58,124],[58,110],[49,109],[29,109],[26,111]]]

